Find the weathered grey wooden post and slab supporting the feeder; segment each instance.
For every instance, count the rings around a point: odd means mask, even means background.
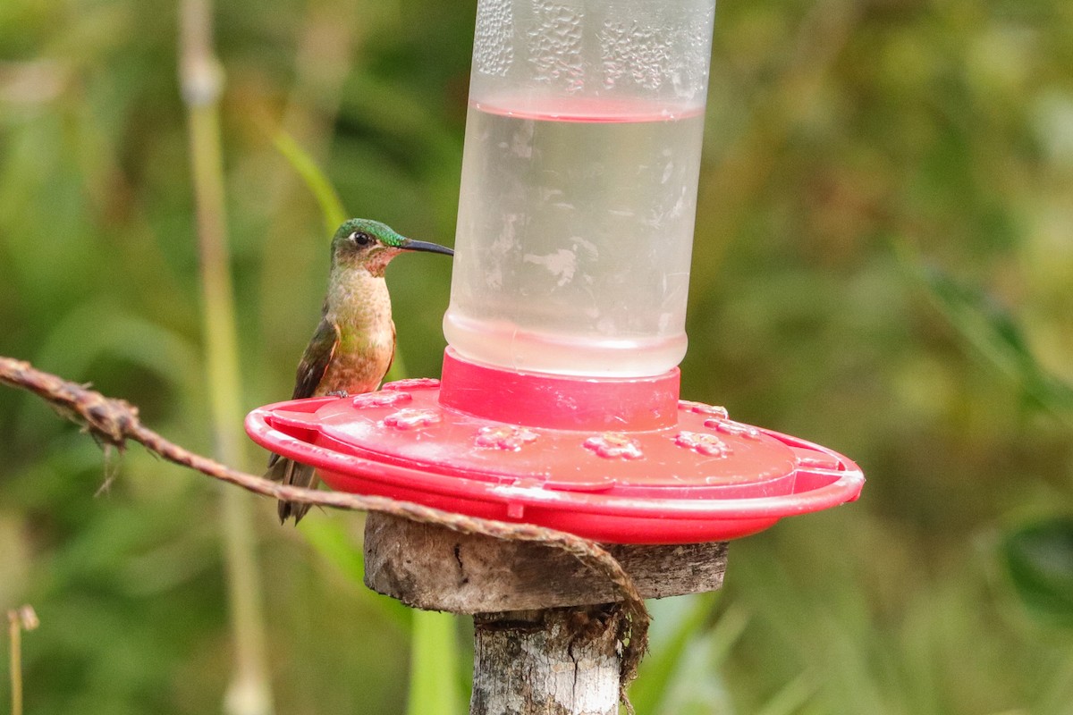
[[[716,591],[726,543],[609,545],[645,598]],[[408,606],[473,615],[471,715],[616,715],[619,594],[558,549],[384,513],[365,526],[365,583]]]

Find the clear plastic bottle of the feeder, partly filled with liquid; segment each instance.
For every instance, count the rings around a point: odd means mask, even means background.
[[[482,0],[447,342],[646,376],[686,353],[712,0]]]

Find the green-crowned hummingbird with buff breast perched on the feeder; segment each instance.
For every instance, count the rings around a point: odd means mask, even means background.
[[[395,323],[384,271],[403,251],[454,255],[437,243],[415,241],[389,226],[369,219],[350,219],[332,239],[332,270],[321,322],[306,346],[294,378],[292,399],[369,392],[392,367]],[[268,460],[265,477],[296,487],[312,487],[313,467],[280,455]],[[294,523],[308,504],[279,503],[281,523]]]

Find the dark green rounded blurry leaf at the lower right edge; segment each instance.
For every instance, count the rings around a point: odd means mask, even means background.
[[[1028,611],[1073,627],[1073,516],[1013,528],[1003,536],[1000,553]]]

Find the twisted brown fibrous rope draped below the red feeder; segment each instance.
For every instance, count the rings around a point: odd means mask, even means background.
[[[0,383],[33,392],[52,404],[61,415],[82,424],[86,431],[105,446],[114,446],[122,451],[127,441],[132,440],[170,462],[231,482],[256,494],[334,509],[381,511],[412,521],[445,526],[460,534],[535,541],[565,551],[583,564],[603,574],[608,581],[615,584],[622,596],[622,617],[620,619],[623,642],[621,698],[627,710],[633,712],[626,698],[624,689],[636,676],[637,665],[641,662],[648,642],[648,611],[645,609],[644,599],[622,565],[594,541],[543,526],[476,519],[411,502],[398,502],[385,496],[366,496],[290,487],[264,477],[239,472],[165,440],[142,424],[137,407],[124,400],[107,398],[84,385],[38,370],[29,362],[21,360],[0,357]]]

